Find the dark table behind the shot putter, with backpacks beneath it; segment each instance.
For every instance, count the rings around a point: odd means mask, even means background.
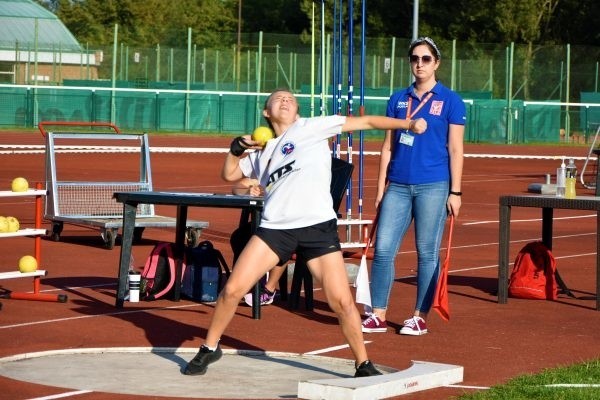
[[[160,204],[177,207],[175,225],[175,254],[177,259],[175,268],[175,282],[181,282],[183,254],[185,251],[185,231],[188,207],[214,207],[214,208],[239,208],[247,210],[250,214],[252,230],[260,222],[263,209],[262,197],[236,196],[214,193],[177,193],[177,192],[116,192],[114,198],[123,203],[123,237],[121,245],[121,258],[119,262],[119,277],[116,306],[123,307],[127,294],[127,276],[131,260],[131,246],[135,228],[136,210],[139,204]],[[181,288],[175,285],[174,300],[180,299]],[[252,296],[252,316],[260,319],[260,287],[257,283]]]

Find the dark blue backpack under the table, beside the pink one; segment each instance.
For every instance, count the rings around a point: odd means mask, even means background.
[[[223,254],[210,241],[205,240],[188,249],[187,260],[181,293],[203,303],[217,301],[230,274]]]

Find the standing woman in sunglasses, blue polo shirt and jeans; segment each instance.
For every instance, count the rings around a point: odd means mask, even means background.
[[[381,147],[375,206],[379,211],[375,256],[371,266],[372,314],[363,332],[386,332],[386,311],[395,277],[395,258],[414,220],[417,247],[417,299],[413,316],[400,334],[427,333],[440,270],[440,243],[447,216],[461,206],[463,137],[466,109],[452,90],[436,80],[441,54],[433,40],[421,37],[408,49],[415,78],[408,88],[392,94],[388,117],[424,118],[427,132],[388,130]]]

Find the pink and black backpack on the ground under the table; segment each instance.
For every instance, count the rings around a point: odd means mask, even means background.
[[[145,301],[157,300],[172,294],[175,288],[175,258],[173,257],[174,243],[157,243],[142,271],[140,283],[140,299]],[[185,257],[182,274],[186,271]]]

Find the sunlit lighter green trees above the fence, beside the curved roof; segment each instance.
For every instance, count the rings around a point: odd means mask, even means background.
[[[223,32],[237,29],[236,0],[52,0],[42,2],[56,13],[81,43],[107,45],[119,26],[120,42],[152,47],[222,44]],[[235,12],[234,12],[235,11]]]

